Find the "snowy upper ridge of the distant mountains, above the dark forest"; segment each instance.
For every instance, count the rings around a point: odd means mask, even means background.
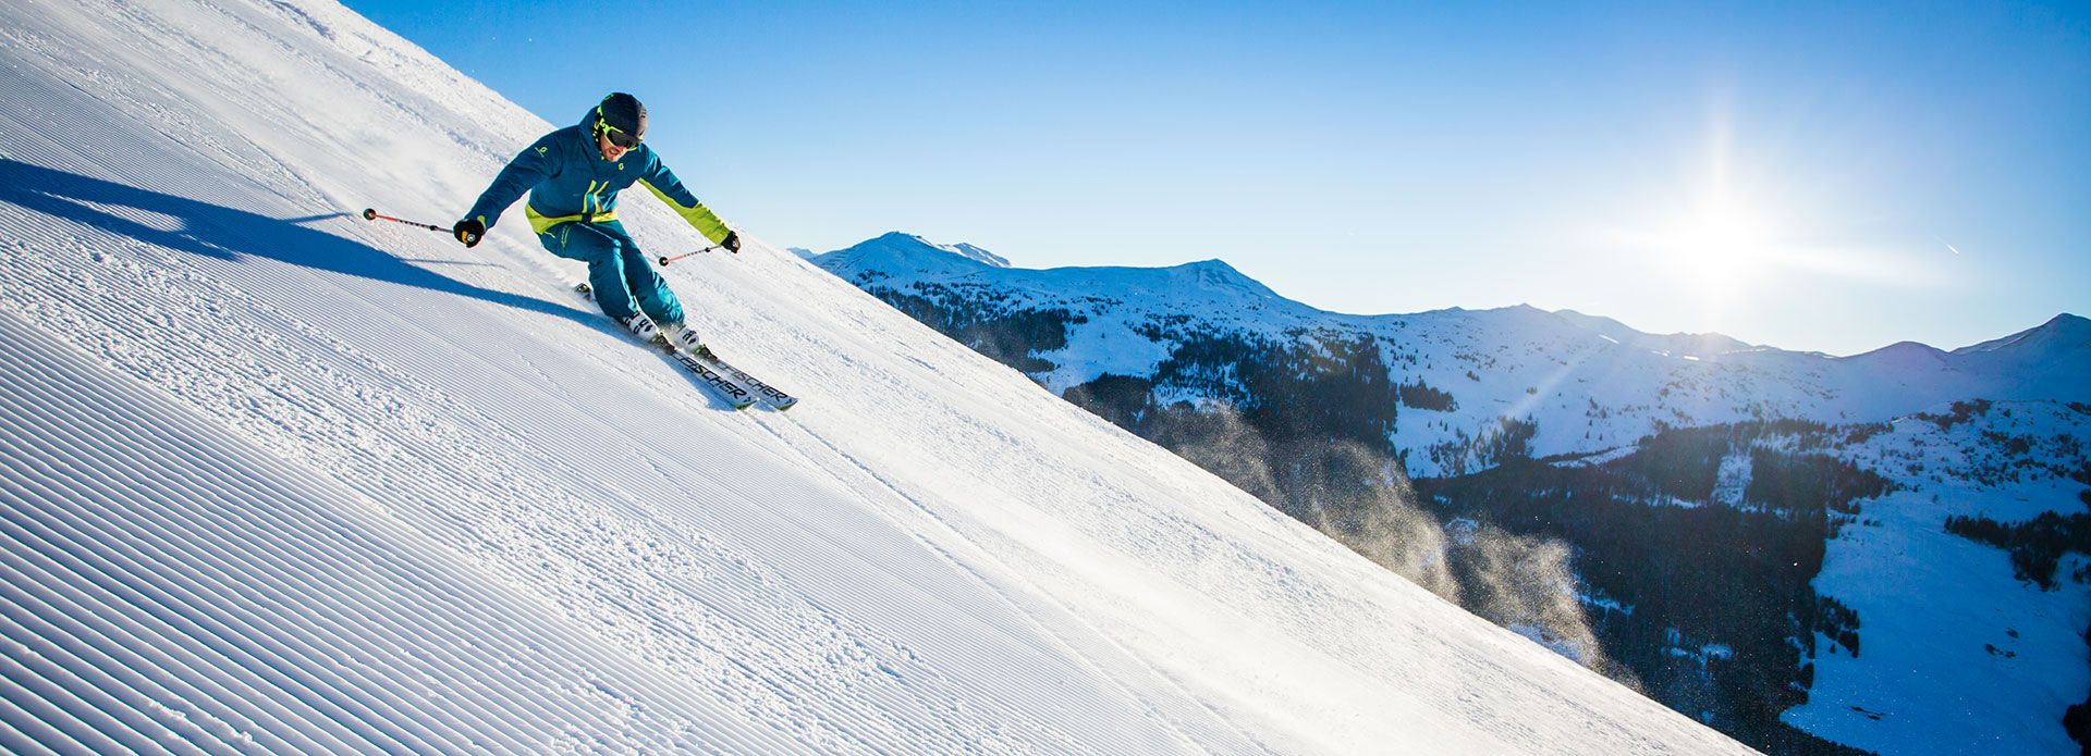
[[[1156,378],[1190,401],[1250,399],[1232,376],[1161,376],[1184,345],[1328,353],[1365,340],[1397,384],[1428,386],[1393,422],[1416,476],[1487,468],[1501,420],[1535,426],[1533,455],[1631,445],[1664,426],[1767,418],[1884,422],[1959,399],[2091,401],[2091,320],[2058,315],[1951,353],[1901,342],[1853,357],[1752,347],[1721,334],[1644,334],[1608,317],[1535,307],[1345,315],[1271,292],[1223,261],[1177,267],[981,265],[887,234],[820,255],[836,276],[964,309],[979,322],[1048,320],[1027,370],[1054,393],[1098,376]],[[1133,336],[1133,338],[1127,338]],[[1217,384],[1215,384],[1217,380]],[[1434,397],[1422,399],[1422,397]]]

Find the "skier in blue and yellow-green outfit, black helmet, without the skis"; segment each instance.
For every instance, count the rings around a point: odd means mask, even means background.
[[[646,107],[629,94],[613,92],[581,123],[537,138],[508,161],[450,232],[464,246],[475,246],[502,211],[529,192],[523,211],[537,242],[552,255],[588,263],[588,284],[604,315],[642,340],[659,334],[669,345],[696,353],[703,340],[684,324],[675,292],[617,221],[617,192],[644,184],[698,234],[736,255],[740,234],[726,228],[675,180],[661,157],[640,142],[644,136]]]

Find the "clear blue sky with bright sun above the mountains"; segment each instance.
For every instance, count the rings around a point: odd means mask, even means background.
[[[1834,355],[2091,315],[2085,2],[347,4],[552,123],[638,94],[784,246]]]

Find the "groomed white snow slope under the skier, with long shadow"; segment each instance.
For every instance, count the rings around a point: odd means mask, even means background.
[[[6,752],[1744,752],[795,255],[669,271],[784,416],[362,221],[550,125],[337,4],[0,15]]]

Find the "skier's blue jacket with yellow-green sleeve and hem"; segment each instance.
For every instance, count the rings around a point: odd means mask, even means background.
[[[596,148],[594,107],[581,123],[546,134],[523,148],[464,217],[493,228],[502,211],[529,192],[523,211],[537,234],[567,221],[606,223],[617,219],[617,192],[631,184],[646,186],[713,244],[726,240],[726,223],[698,203],[667,165],[661,165],[661,157],[646,142],[617,161],[602,159],[602,150]]]

